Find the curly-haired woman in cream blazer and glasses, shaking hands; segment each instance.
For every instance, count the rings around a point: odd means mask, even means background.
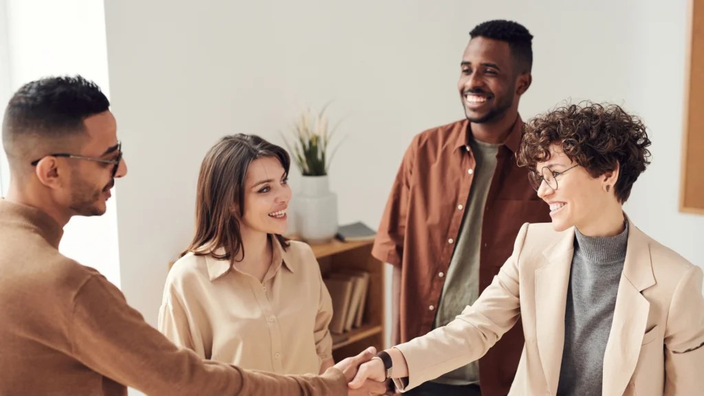
[[[509,395],[700,395],[703,272],[622,209],[649,145],[642,121],[615,105],[561,106],[527,123],[517,159],[552,223],[524,224],[476,303],[379,352],[351,388],[386,374],[413,388],[482,357],[520,316]]]

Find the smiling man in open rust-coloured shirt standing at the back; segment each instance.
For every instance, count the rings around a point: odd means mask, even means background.
[[[515,158],[518,101],[532,82],[532,35],[518,23],[491,20],[470,37],[458,83],[466,119],[415,136],[372,251],[394,266],[394,345],[451,322],[498,274],[520,226],[550,221]],[[523,348],[520,329],[479,362],[408,394],[506,395]]]

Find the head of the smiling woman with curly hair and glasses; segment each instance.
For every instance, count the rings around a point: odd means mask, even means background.
[[[603,228],[609,221],[599,221],[623,217],[621,206],[650,163],[649,146],[639,118],[616,105],[587,101],[530,120],[517,157],[530,169],[539,197],[551,205],[555,230],[577,226],[608,233]]]

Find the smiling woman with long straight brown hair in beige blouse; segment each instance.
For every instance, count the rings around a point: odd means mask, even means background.
[[[198,178],[196,235],[171,268],[158,328],[203,359],[282,374],[332,366],[332,301],[288,228],[290,159],[254,135],[223,137]]]

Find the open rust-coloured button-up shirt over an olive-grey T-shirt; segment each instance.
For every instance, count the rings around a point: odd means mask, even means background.
[[[511,255],[521,225],[550,221],[528,171],[516,164],[522,126],[519,116],[496,154],[479,236],[479,293]],[[401,267],[401,342],[432,330],[476,166],[469,127],[460,120],[415,136],[379,224],[372,255]],[[479,360],[482,395],[508,393],[523,343],[519,321]]]

